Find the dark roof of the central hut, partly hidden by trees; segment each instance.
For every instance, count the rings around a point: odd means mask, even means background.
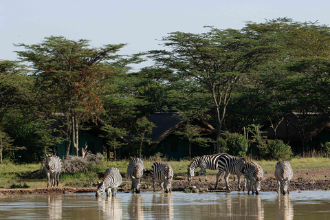
[[[159,112],[153,113],[148,117],[148,120],[155,124],[153,133],[151,134],[151,140],[153,142],[160,142],[164,140],[168,135],[173,133],[176,129],[184,123],[179,120],[175,112]],[[216,131],[212,125],[201,120],[195,120],[193,124],[199,125],[199,132],[201,134],[209,134]]]

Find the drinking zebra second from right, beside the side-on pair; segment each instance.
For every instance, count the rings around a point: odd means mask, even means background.
[[[263,168],[261,168],[256,162],[249,161],[244,167],[244,177],[245,183],[243,192],[246,184],[248,184],[248,195],[250,195],[250,191],[252,191],[252,195],[254,195],[254,192],[256,192],[256,195],[259,195],[259,191],[261,190],[261,180],[263,179]]]

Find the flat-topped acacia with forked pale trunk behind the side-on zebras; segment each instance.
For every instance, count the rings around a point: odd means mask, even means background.
[[[192,83],[210,96],[219,140],[234,87],[272,55],[272,38],[250,30],[210,28],[202,34],[170,33],[163,41],[170,50],[152,51],[151,58],[172,69],[181,83]],[[219,147],[217,142],[217,152]]]

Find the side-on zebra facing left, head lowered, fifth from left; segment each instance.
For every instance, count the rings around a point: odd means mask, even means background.
[[[190,162],[190,164],[188,165],[188,181],[190,181],[192,177],[195,176],[195,170],[197,169],[197,167],[201,168],[201,170],[199,170],[199,181],[201,181],[201,173],[204,173],[205,181],[208,181],[208,177],[206,177],[206,169],[217,170],[218,159],[221,155],[224,154],[225,153],[203,155],[201,157],[196,157],[195,159],[193,159],[192,162]]]

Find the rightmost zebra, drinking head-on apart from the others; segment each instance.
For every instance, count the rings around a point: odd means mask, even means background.
[[[294,171],[292,170],[289,162],[285,160],[277,162],[275,166],[275,178],[278,184],[277,193],[281,192],[283,195],[286,193],[289,194],[290,180],[292,179],[293,175]]]

